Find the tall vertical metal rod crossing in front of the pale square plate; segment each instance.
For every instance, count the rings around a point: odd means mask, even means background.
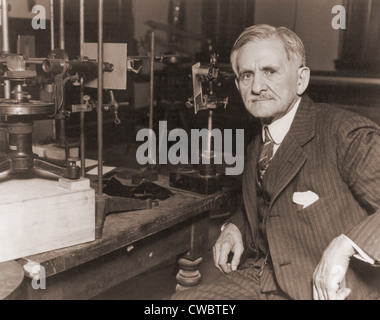
[[[98,195],[103,194],[103,0],[98,8]]]

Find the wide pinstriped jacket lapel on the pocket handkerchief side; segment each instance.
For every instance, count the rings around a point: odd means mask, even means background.
[[[308,98],[302,98],[292,126],[278,148],[271,165],[276,169],[270,207],[306,161],[303,146],[315,135],[316,110]]]

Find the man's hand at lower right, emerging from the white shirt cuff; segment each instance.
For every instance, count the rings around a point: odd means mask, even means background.
[[[313,275],[313,298],[315,300],[344,300],[351,293],[349,288],[340,288],[348,264],[355,249],[340,235],[333,239],[322,255]]]

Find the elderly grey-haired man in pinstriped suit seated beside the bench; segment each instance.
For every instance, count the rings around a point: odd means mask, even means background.
[[[379,298],[380,128],[304,96],[305,49],[287,28],[247,28],[231,63],[262,134],[213,248],[220,279],[173,298]]]

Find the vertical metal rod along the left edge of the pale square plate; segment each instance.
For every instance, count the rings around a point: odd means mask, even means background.
[[[79,46],[80,46],[80,56],[83,57],[83,45],[84,45],[84,0],[80,0],[79,7]],[[83,77],[80,78],[80,101],[83,103],[84,96],[84,80]],[[85,113],[80,112],[80,162],[81,162],[81,176],[86,175],[86,157],[85,157],[85,148],[86,148],[86,139],[85,139]]]

